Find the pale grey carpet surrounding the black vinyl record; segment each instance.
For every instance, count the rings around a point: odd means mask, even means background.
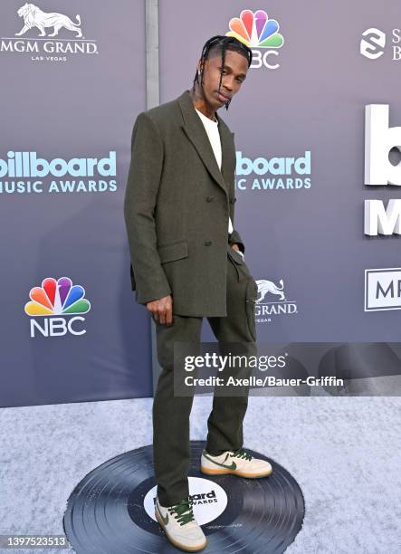
[[[211,402],[196,396],[193,439],[205,439]],[[0,409],[0,534],[62,534],[77,482],[151,444],[151,405],[144,398]],[[286,552],[401,552],[400,416],[399,397],[250,397],[245,446],[284,466],[305,497],[303,527]]]

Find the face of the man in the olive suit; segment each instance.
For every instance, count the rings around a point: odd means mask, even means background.
[[[200,62],[198,69],[201,70]],[[209,53],[209,58],[205,61],[205,72],[203,91],[206,102],[214,110],[218,110],[224,103],[233,98],[243,84],[248,71],[248,61],[240,53],[232,50],[225,51],[224,67],[222,66],[221,52],[213,51]],[[220,74],[222,73],[222,84],[219,90]],[[199,81],[200,82],[200,81]]]

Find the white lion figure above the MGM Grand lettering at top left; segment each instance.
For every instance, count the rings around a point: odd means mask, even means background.
[[[46,14],[37,5],[34,4],[24,4],[22,5],[17,14],[20,17],[24,17],[24,27],[19,33],[15,33],[15,36],[21,36],[22,34],[29,31],[33,27],[37,27],[41,32],[39,36],[46,36],[44,32],[45,27],[53,27],[53,33],[48,36],[56,36],[59,33],[60,29],[64,27],[69,31],[74,31],[78,33],[76,38],[82,37],[81,32],[81,16],[76,15],[78,24],[74,24],[68,15],[63,14]]]

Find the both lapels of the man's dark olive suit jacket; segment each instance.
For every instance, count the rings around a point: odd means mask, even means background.
[[[217,185],[223,188],[225,194],[228,196],[228,187],[225,184],[224,175],[226,176],[228,174],[228,149],[233,148],[234,133],[228,129],[224,121],[216,114],[219,121],[218,129],[222,144],[222,170],[220,171],[204,124],[196,113],[194,104],[189,96],[189,91],[184,91],[181,96],[177,98],[177,101],[184,119],[184,123],[181,127],[185,130],[186,136],[196,148],[210,175],[215,179]]]

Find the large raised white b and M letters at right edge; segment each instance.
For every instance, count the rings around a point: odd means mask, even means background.
[[[365,107],[365,185],[401,186],[401,165],[393,166],[388,155],[401,145],[401,127],[389,127],[388,104]],[[401,200],[365,200],[364,233],[401,234]]]

